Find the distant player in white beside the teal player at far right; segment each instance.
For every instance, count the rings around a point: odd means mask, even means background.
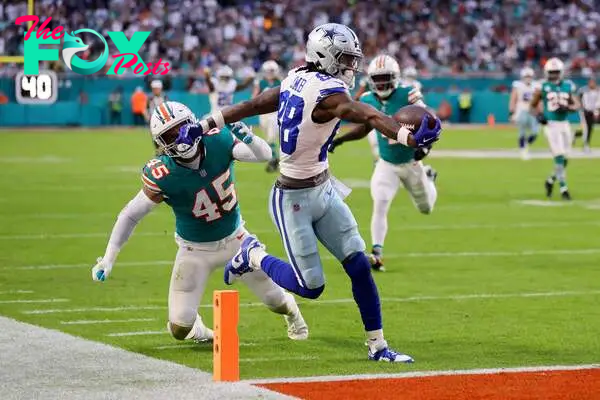
[[[510,94],[508,112],[512,121],[519,127],[519,149],[523,160],[529,159],[528,146],[537,138],[539,125],[531,114],[531,99],[536,88],[535,72],[529,67],[521,70],[521,79],[514,81]]]

